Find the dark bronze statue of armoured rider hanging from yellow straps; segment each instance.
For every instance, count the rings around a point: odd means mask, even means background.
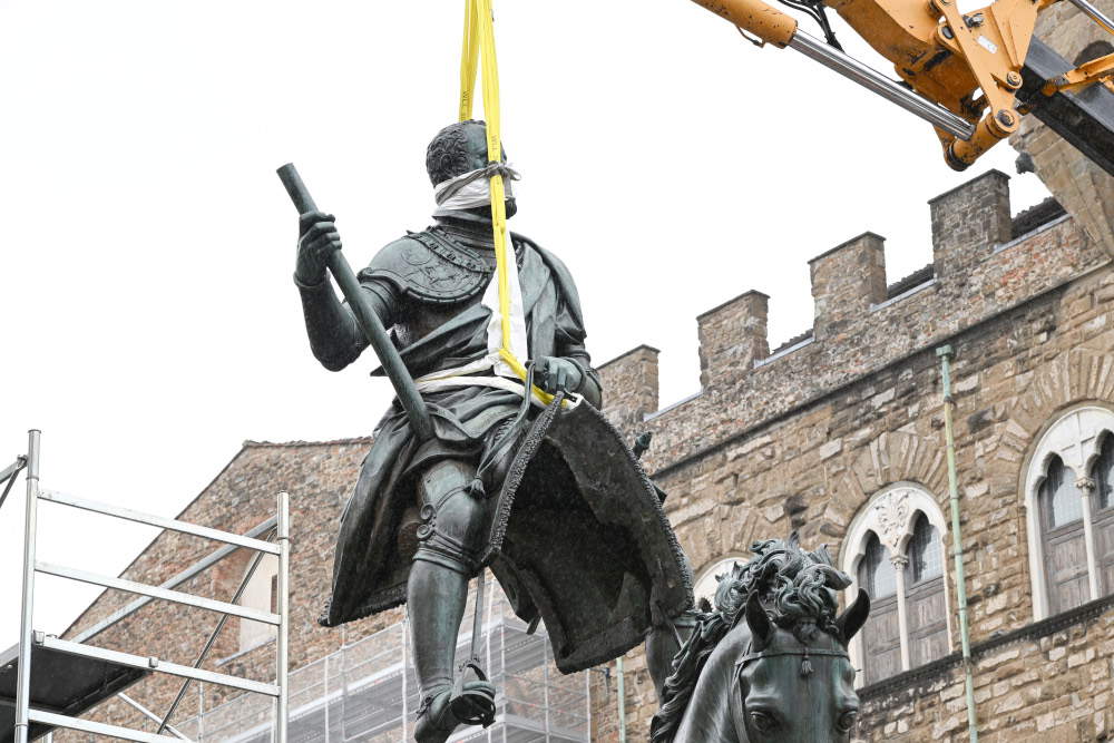
[[[505,158],[489,163],[487,155],[483,123],[442,129],[426,158],[433,224],[390,243],[359,272],[434,434],[419,440],[398,401],[375,428],[341,517],[321,620],[335,626],[408,604],[420,743],[444,741],[462,722],[494,714],[490,682],[482,674],[461,682],[453,668],[468,581],[481,567],[492,568],[522,619],[545,619],[565,672],[629,649],[652,625],[680,614],[691,594],[653,486],[595,412],[600,382],[573,277],[515,233],[507,255],[517,274],[522,360],[556,402],[537,403],[492,361],[499,323],[489,289],[498,282],[488,179],[504,176],[511,216],[517,175]],[[328,278],[340,248],[331,215],[301,216],[294,281],[313,353],[333,371],[368,345]],[[602,458],[607,452],[614,456]]]

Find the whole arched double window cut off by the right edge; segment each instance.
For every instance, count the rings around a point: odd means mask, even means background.
[[[1114,593],[1114,412],[1084,404],[1040,436],[1025,472],[1034,619]]]

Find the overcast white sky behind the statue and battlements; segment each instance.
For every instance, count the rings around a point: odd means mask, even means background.
[[[928,125],[687,0],[495,4],[511,227],[570,266],[597,361],[662,350],[663,404],[698,389],[701,312],[761,290],[775,345],[812,324],[810,257],[872,229],[893,281],[931,260],[927,199],[1013,173],[1007,145],[952,173]],[[244,439],[370,433],[388,383],[370,354],[336,374],[310,354],[274,170],[299,166],[353,264],[428,224],[461,9],[0,0],[0,468],[41,428],[43,487],[175,515]],[[1015,212],[1046,195],[1012,187]],[[22,509],[21,480],[0,648]],[[154,530],[45,505],[40,535],[41,559],[115,575]],[[36,627],[95,596],[40,579]]]

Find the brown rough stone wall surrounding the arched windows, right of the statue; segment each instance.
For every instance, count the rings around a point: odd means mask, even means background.
[[[877,235],[843,243],[811,262],[811,333],[746,373],[707,370],[693,399],[616,422],[654,433],[648,469],[696,575],[791,529],[841,555],[851,519],[887,485],[919,483],[948,512],[936,348],[951,344],[981,740],[1101,740],[1112,722],[1114,610],[1100,602],[1054,630],[1033,624],[1018,490],[1026,454],[1057,411],[1114,401],[1114,272],[1072,218],[1047,211],[1037,226],[1013,221],[1001,174],[932,199],[930,211],[934,265],[912,281],[887,287]],[[727,303],[714,326],[745,336],[765,323],[764,305],[758,317],[753,306]],[[702,316],[702,345],[731,345],[709,338],[710,326]],[[631,358],[609,373],[623,377]],[[947,576],[954,614],[950,560]],[[628,737],[646,740],[655,697],[641,651],[625,666]],[[594,740],[617,740],[615,690],[596,680]],[[956,656],[862,691],[857,740],[967,740]]]

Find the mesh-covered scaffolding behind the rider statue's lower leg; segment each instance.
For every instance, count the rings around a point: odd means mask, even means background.
[[[587,742],[590,736],[588,674],[563,675],[553,663],[545,627],[535,634],[515,616],[496,581],[487,583],[480,657],[496,684],[496,722],[458,731],[450,743]],[[469,596],[470,616],[475,590]],[[409,643],[399,622],[291,674],[290,740],[299,743],[402,743],[411,740],[419,704]],[[457,641],[468,657],[471,623]],[[268,710],[244,695],[178,723],[197,741],[265,743]]]

